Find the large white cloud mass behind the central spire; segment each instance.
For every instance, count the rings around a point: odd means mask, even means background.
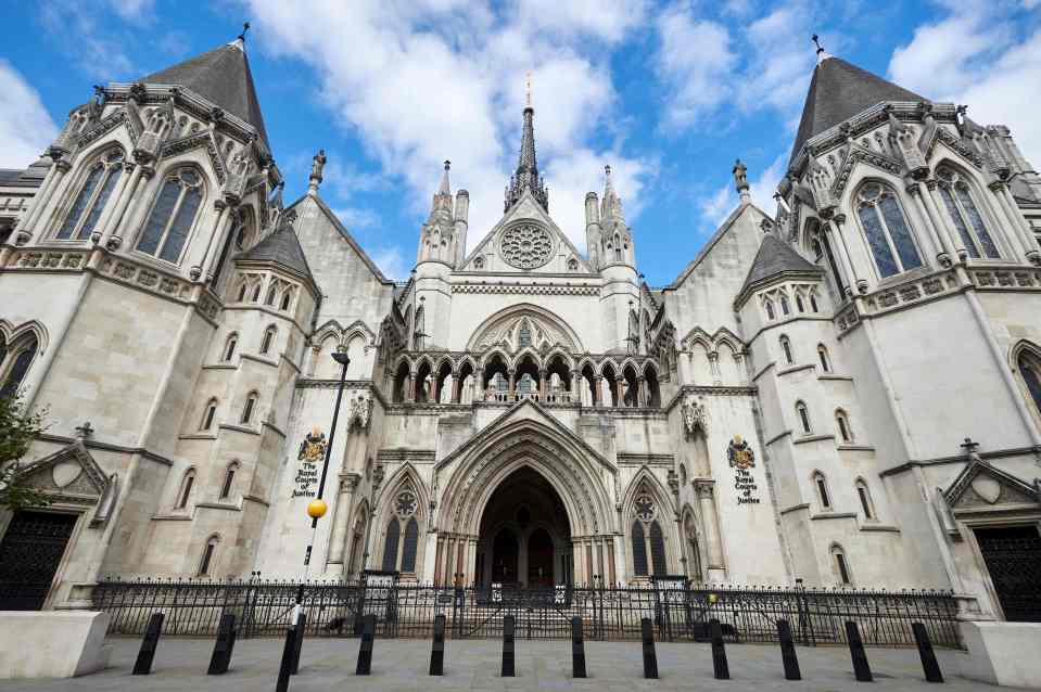
[[[371,0],[344,12],[340,2],[326,0],[302,13],[278,0],[249,2],[262,44],[309,63],[326,106],[386,177],[404,182],[417,232],[442,162],[452,159],[453,189],[470,192],[471,247],[502,216],[531,71],[539,165],[553,174],[550,208],[581,242],[584,223],[571,219],[581,221],[584,192],[602,184],[601,177],[573,181],[574,174],[562,170],[563,157],[591,149],[606,129],[615,97],[600,49],[636,25],[642,7]],[[612,159],[619,170],[647,168],[618,152]]]

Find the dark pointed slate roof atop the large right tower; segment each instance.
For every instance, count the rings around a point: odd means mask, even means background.
[[[850,119],[883,101],[928,101],[923,97],[886,81],[841,57],[828,56],[813,69],[810,91],[802,106],[799,132],[791,148],[791,163],[799,150],[821,132]]]

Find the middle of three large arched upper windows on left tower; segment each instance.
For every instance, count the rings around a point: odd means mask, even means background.
[[[202,176],[191,168],[178,168],[163,182],[155,205],[144,222],[138,249],[176,262],[202,204]]]

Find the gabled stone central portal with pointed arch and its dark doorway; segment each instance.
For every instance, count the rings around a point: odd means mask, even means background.
[[[554,555],[553,582],[584,585],[598,575],[613,581],[615,575],[622,574],[623,567],[617,568],[617,561],[621,564],[624,556],[611,500],[618,470],[574,433],[546,415],[537,403],[516,405],[440,462],[435,473],[439,476],[435,486],[444,488],[434,520],[437,552],[432,577],[435,582],[486,584],[491,580],[495,555],[490,541],[494,541],[502,528],[496,522],[505,526],[509,520],[516,530],[520,524],[518,518],[524,517],[517,514],[523,502],[511,497],[509,488],[513,488],[515,496],[524,491],[542,497],[534,507],[553,507],[551,517],[556,517],[550,521],[529,508],[530,528],[515,538],[518,553],[523,548],[526,554],[536,555],[536,561],[522,565],[518,560],[513,584],[549,582],[546,564],[549,543]],[[518,475],[513,477],[515,474]],[[531,487],[524,487],[525,483]],[[503,492],[498,492],[500,488]],[[536,523],[542,521],[545,521],[543,528],[548,541],[544,535],[534,536],[533,550],[530,539]],[[522,538],[526,542],[522,542]],[[533,567],[531,577],[526,572],[529,566]]]

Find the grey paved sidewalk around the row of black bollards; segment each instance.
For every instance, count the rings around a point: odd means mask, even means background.
[[[274,690],[282,642],[253,639],[236,644],[231,670],[224,676],[206,676],[213,640],[164,639],[160,641],[152,675],[131,676],[138,639],[113,639],[111,667],[103,672],[71,680],[2,680],[2,692],[104,690]],[[293,692],[327,690],[998,690],[956,676],[957,661],[964,654],[937,651],[947,684],[925,682],[916,650],[868,649],[875,674],[874,685],[853,679],[849,651],[840,648],[798,648],[801,682],[784,679],[777,646],[731,644],[727,657],[732,679],[712,677],[712,651],[708,644],[663,644],[658,648],[659,680],[643,678],[639,642],[586,642],[589,678],[571,678],[570,641],[517,641],[517,677],[500,678],[502,642],[493,640],[445,643],[445,676],[427,675],[430,642],[420,640],[377,640],[372,675],[354,675],[358,654],[357,639],[309,639],[304,642],[300,675],[293,677]]]

